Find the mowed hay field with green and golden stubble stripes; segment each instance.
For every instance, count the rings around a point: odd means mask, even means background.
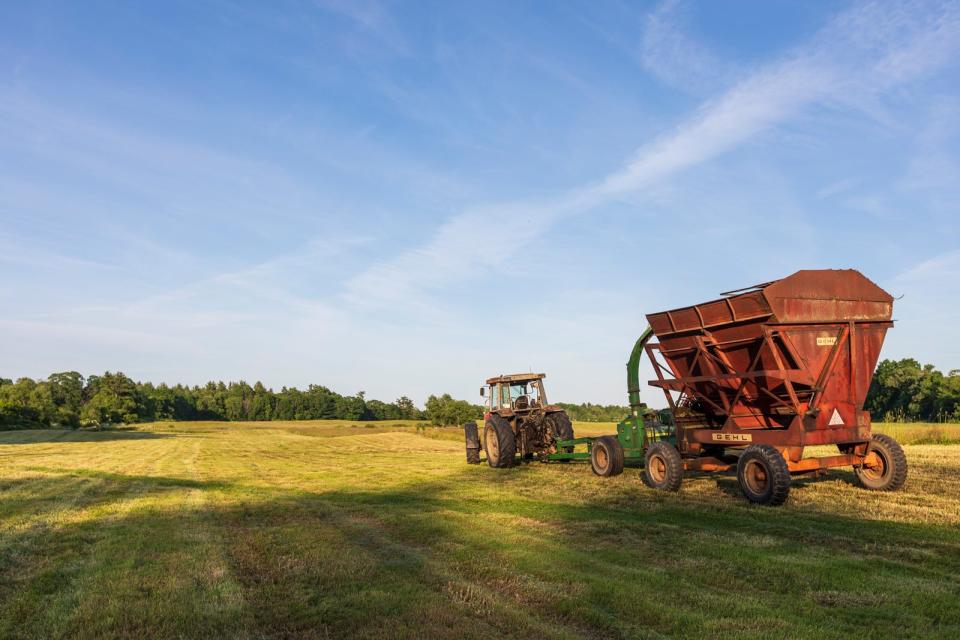
[[[905,449],[766,508],[408,423],[4,432],[0,637],[960,637],[960,445]]]

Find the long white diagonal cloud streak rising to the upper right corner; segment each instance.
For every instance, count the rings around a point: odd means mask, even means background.
[[[431,289],[503,264],[558,220],[663,183],[813,106],[876,94],[916,79],[960,51],[960,7],[915,2],[890,11],[862,3],[838,15],[806,46],[708,100],[673,131],[643,145],[622,167],[552,200],[508,202],[456,215],[423,246],[374,265],[346,284],[363,305],[422,301]]]

